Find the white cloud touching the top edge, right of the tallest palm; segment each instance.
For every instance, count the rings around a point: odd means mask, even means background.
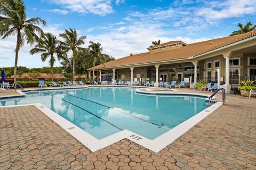
[[[114,12],[111,0],[49,0],[49,2],[78,13],[92,13],[105,16]]]

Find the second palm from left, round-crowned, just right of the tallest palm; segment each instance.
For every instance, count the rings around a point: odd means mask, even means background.
[[[53,65],[56,61],[54,54],[57,54],[57,59],[59,61],[66,58],[66,53],[62,52],[60,41],[56,36],[52,35],[52,33],[45,33],[45,35],[42,35],[42,37],[38,40],[35,47],[30,50],[31,55],[36,53],[42,53],[41,59],[43,62],[50,57],[49,64],[51,66],[51,79],[53,81]]]

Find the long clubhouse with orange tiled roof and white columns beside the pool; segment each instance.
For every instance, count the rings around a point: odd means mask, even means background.
[[[156,85],[189,77],[192,82],[210,82],[217,81],[219,69],[221,87],[229,92],[239,80],[256,78],[256,30],[193,44],[170,41],[147,49],[95,66],[99,81],[107,75],[109,80],[155,81]]]

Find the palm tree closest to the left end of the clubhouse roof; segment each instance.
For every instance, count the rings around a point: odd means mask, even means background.
[[[104,60],[105,57],[101,54],[102,47],[100,47],[100,46],[101,46],[100,43],[93,43],[93,41],[90,41],[90,45],[88,46],[90,49],[90,52],[92,54],[92,58],[91,58],[91,63],[93,66],[92,81],[94,81],[95,64],[96,63],[100,63],[100,64],[105,63],[105,60]]]

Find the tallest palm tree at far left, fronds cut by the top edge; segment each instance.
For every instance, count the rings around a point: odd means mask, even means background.
[[[14,82],[17,81],[17,64],[20,48],[25,44],[34,44],[38,40],[36,33],[42,34],[43,30],[35,24],[46,25],[41,18],[27,20],[26,7],[22,0],[1,0],[0,8],[0,36],[3,39],[17,35],[15,48]]]

